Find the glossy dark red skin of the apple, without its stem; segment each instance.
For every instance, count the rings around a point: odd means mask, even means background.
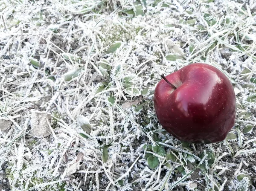
[[[223,141],[235,124],[236,96],[229,79],[209,64],[189,64],[154,91],[154,108],[163,128],[191,143]]]

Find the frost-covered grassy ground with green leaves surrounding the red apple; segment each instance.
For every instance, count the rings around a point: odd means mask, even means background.
[[[255,191],[256,2],[1,0],[0,190]],[[193,62],[230,78],[224,142],[157,123],[160,75]]]

